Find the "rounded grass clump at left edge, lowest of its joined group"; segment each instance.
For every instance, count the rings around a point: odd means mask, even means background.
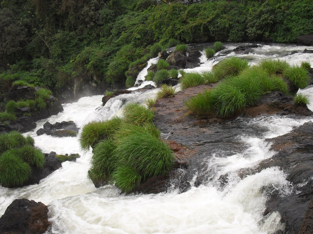
[[[4,152],[0,157],[0,183],[5,187],[22,185],[31,173],[30,166],[18,156],[16,149]]]

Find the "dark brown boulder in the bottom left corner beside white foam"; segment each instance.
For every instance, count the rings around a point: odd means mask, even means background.
[[[0,234],[42,234],[49,225],[46,205],[33,200],[16,199],[0,218]]]

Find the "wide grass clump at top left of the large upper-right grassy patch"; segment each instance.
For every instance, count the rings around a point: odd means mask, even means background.
[[[223,59],[218,64],[214,65],[212,71],[218,80],[220,80],[228,76],[236,76],[248,67],[248,60],[231,57]]]

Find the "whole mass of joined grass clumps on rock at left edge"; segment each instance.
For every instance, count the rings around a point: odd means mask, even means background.
[[[44,167],[44,155],[33,147],[34,139],[12,131],[0,134],[0,183],[5,187],[22,185],[31,167]]]

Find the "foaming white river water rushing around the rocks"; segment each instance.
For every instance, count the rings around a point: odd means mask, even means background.
[[[200,67],[185,69],[186,72],[210,70],[214,64],[229,56],[247,58],[250,64],[262,59],[280,58],[290,64],[300,64],[310,61],[313,66],[313,54],[295,53],[310,49],[308,46],[295,45],[262,45],[248,55],[226,53],[239,44],[225,44],[227,47],[216,54],[211,60],[206,60],[204,53]],[[195,46],[197,48],[197,46]],[[201,48],[201,45],[198,46]],[[311,47],[312,49],[312,47]],[[157,58],[151,59],[156,63]],[[138,76],[144,80],[146,67]],[[144,81],[141,87],[153,82]],[[135,90],[136,88],[131,88]],[[272,213],[263,217],[267,196],[263,193],[264,186],[271,185],[280,190],[280,195],[290,193],[291,184],[279,168],[267,168],[259,173],[240,179],[236,170],[254,166],[259,160],[270,158],[274,152],[269,151],[270,144],[266,138],[276,137],[292,130],[293,127],[313,120],[292,116],[261,116],[246,119],[246,124],[266,129],[260,133],[242,134],[236,136],[238,143],[247,147],[241,152],[233,152],[228,157],[212,153],[203,163],[206,168],[214,168],[215,178],[207,178],[207,182],[180,193],[170,189],[160,194],[120,194],[115,186],[95,188],[87,179],[91,152],[80,150],[78,139],[74,137],[57,138],[47,135],[37,136],[36,131],[42,128],[46,121],[50,123],[73,120],[78,127],[91,120],[106,120],[121,114],[122,105],[127,102],[143,103],[147,98],[156,95],[157,89],[146,92],[133,92],[110,99],[102,107],[101,95],[83,97],[75,103],[64,104],[64,112],[37,122],[37,128],[25,135],[35,139],[35,145],[43,152],[55,151],[58,154],[79,153],[77,162],[64,162],[62,168],[40,181],[38,185],[23,188],[8,189],[0,187],[0,215],[8,205],[17,198],[27,198],[43,202],[49,207],[49,218],[53,233],[214,233],[214,234],[250,234],[273,233],[283,228],[280,214]],[[300,90],[310,96],[313,103],[313,86]],[[98,108],[99,107],[99,108]],[[309,108],[313,110],[313,105]],[[232,149],[228,149],[231,151]],[[196,172],[190,183],[194,184]],[[220,187],[217,178],[228,173],[231,181],[224,188]],[[233,174],[232,174],[233,173]],[[212,173],[210,174],[212,176]]]

